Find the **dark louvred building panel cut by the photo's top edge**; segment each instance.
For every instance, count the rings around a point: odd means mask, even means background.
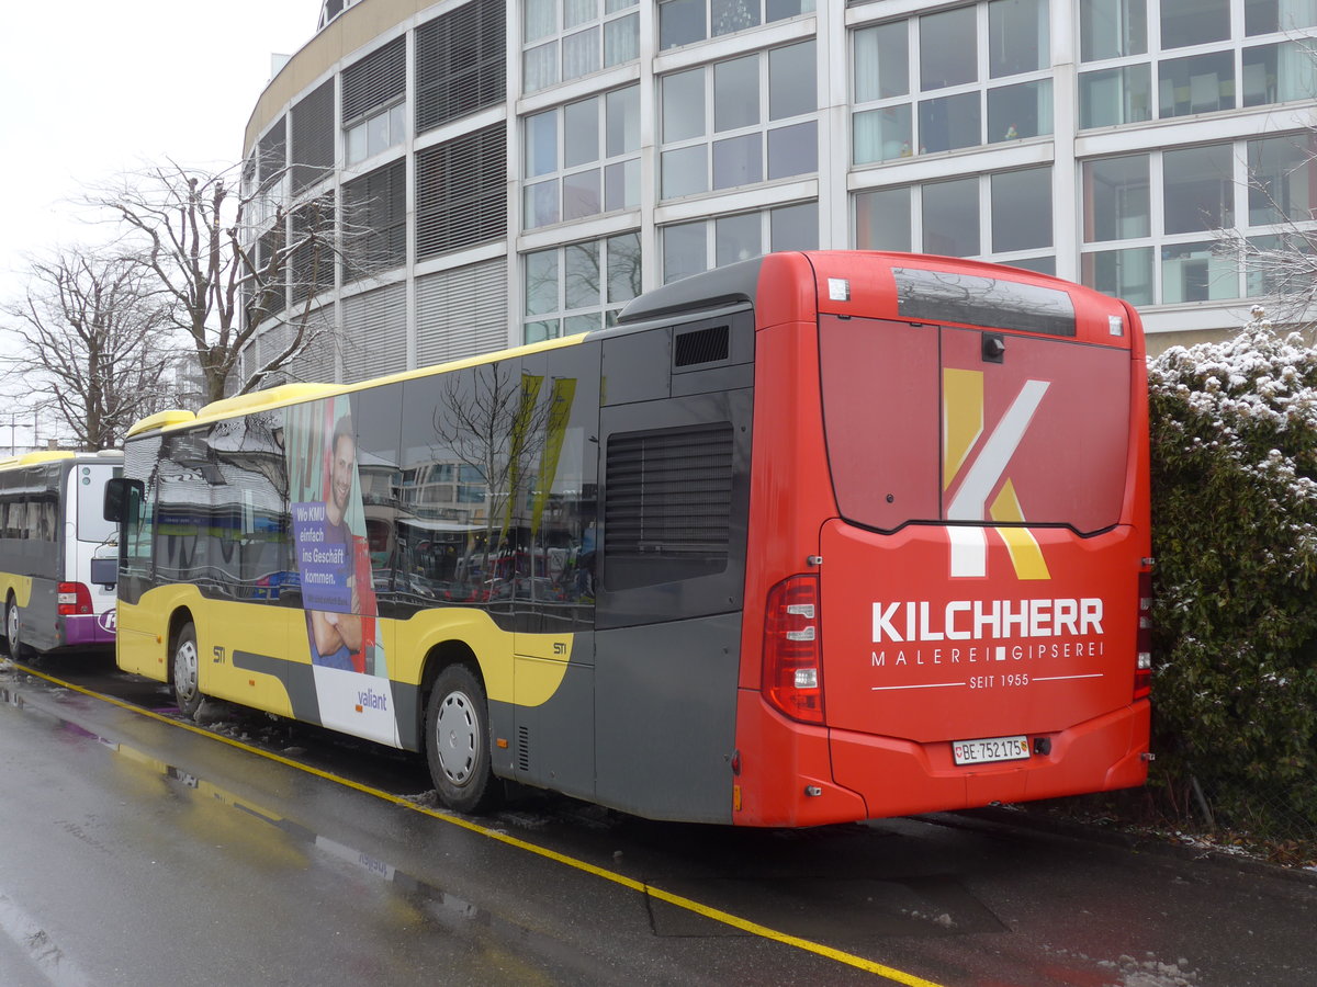
[[[507,99],[503,0],[471,0],[416,29],[416,133]]]

